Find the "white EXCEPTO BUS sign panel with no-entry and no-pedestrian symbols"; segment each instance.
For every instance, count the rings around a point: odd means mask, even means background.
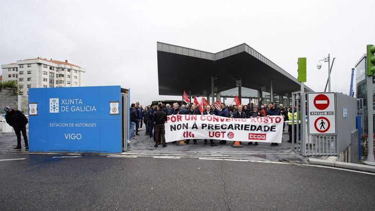
[[[336,98],[334,92],[307,93],[309,135],[336,134]]]

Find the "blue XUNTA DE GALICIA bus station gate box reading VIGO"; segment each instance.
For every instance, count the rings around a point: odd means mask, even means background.
[[[29,88],[29,151],[120,153],[129,126],[129,89]]]

